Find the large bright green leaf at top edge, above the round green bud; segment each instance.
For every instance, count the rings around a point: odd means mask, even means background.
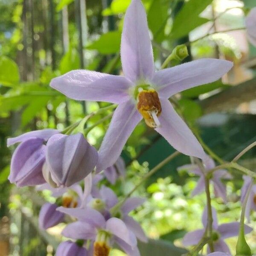
[[[210,3],[212,3],[212,0],[189,0],[186,2],[173,21],[172,39],[188,35],[190,31],[209,21],[206,18],[198,17],[198,15]]]

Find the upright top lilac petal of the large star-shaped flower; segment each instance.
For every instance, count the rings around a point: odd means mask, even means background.
[[[122,69],[131,81],[152,79],[154,59],[145,9],[140,0],[128,7],[121,42]]]

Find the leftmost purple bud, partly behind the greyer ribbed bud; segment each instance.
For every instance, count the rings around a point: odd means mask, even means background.
[[[15,149],[8,179],[17,186],[35,186],[45,183],[42,166],[45,161],[44,140],[32,138]]]

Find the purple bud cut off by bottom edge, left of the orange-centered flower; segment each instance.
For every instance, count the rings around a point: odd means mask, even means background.
[[[59,244],[55,256],[88,256],[84,247],[72,241],[65,241]]]

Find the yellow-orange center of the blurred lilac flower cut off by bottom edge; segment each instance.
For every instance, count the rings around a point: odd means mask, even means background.
[[[99,231],[93,244],[93,256],[108,256],[110,252],[110,234],[105,231]]]

